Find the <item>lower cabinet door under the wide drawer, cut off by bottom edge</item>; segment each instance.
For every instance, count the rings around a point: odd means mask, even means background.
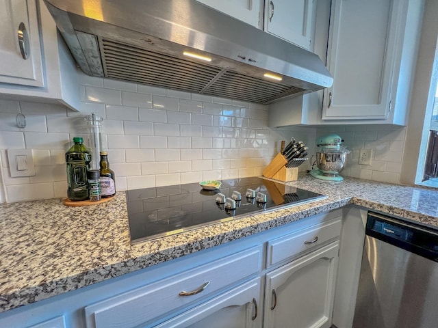
[[[260,278],[253,279],[155,328],[261,327],[260,292]]]

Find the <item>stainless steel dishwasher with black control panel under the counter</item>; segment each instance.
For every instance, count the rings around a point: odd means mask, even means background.
[[[368,213],[353,328],[438,327],[438,232]]]

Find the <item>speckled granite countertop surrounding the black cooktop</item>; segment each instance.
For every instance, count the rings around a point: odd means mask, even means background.
[[[62,200],[0,206],[0,312],[347,204],[438,227],[438,191],[346,178],[288,184],[324,200],[130,245],[125,192],[95,206]]]

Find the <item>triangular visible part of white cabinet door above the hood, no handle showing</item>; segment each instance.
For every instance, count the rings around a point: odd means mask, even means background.
[[[261,0],[197,0],[224,14],[242,20],[245,23],[261,28],[263,14]]]

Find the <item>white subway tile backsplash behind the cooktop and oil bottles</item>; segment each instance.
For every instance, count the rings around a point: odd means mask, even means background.
[[[0,99],[3,201],[66,197],[64,153],[73,137],[86,137],[84,117],[91,112],[104,119],[103,148],[118,191],[259,176],[282,139],[314,144],[315,128],[268,128],[263,105],[80,77],[80,113],[62,105]],[[17,113],[25,114],[26,128],[16,126]],[[9,148],[32,150],[35,176],[11,178]]]

